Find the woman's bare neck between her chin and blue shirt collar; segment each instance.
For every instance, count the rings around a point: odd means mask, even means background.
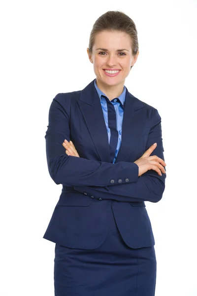
[[[107,98],[111,101],[114,98],[119,97],[124,89],[125,80],[121,81],[121,83],[117,85],[107,85],[100,81],[98,78],[96,80],[97,86],[99,89],[107,96]]]

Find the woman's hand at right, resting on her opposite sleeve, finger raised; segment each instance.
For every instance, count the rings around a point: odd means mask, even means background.
[[[166,164],[164,160],[156,155],[150,156],[150,154],[156,147],[157,144],[153,144],[150,148],[148,148],[148,150],[144,152],[144,154],[139,159],[134,161],[134,163],[136,163],[139,167],[139,177],[148,170],[154,170],[160,176],[162,176],[162,173],[165,174],[164,166],[166,166]]]

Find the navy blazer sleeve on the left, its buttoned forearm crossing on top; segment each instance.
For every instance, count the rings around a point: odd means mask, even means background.
[[[68,186],[107,186],[122,177],[128,183],[137,182],[138,166],[135,163],[117,164],[68,156],[63,147],[70,141],[70,93],[57,94],[49,108],[49,123],[45,135],[48,170],[53,181]],[[74,99],[74,98],[73,98]]]

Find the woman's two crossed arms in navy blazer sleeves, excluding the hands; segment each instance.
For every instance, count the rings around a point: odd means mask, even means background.
[[[88,160],[69,156],[63,147],[64,139],[70,140],[68,112],[70,100],[66,94],[58,94],[49,109],[49,125],[46,131],[46,156],[48,170],[56,184],[74,186],[74,189],[96,198],[115,199],[119,201],[151,201],[161,200],[166,174],[159,176],[154,170],[149,170],[138,177],[138,166],[132,162],[115,164]],[[162,143],[161,117],[153,108],[151,129],[146,143],[148,149],[157,143],[152,155],[164,160]],[[110,177],[109,177],[110,176]],[[118,184],[121,178],[123,183]],[[110,180],[114,179],[115,184]],[[126,183],[125,179],[129,179]],[[83,197],[82,197],[83,198]]]

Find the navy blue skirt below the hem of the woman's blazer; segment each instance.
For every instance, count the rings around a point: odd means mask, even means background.
[[[94,250],[55,245],[55,296],[154,296],[155,248],[131,249],[112,209],[105,241]],[[131,225],[134,227],[134,225]]]

